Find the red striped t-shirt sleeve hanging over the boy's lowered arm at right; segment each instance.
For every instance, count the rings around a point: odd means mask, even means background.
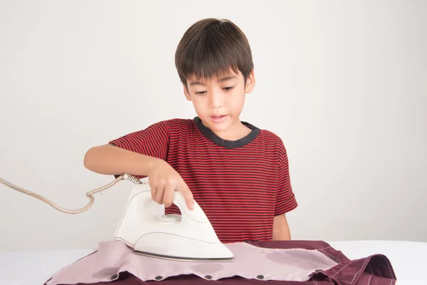
[[[297,201],[290,183],[288,154],[281,140],[278,147],[278,155],[278,192],[275,204],[275,216],[290,212],[297,207]]]

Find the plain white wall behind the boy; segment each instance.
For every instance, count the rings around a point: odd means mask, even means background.
[[[253,48],[241,119],[285,142],[292,238],[427,242],[426,1],[0,1],[0,177],[85,206],[90,147],[194,117],[174,51],[205,17]],[[131,189],[72,215],[0,185],[0,251],[97,247]]]

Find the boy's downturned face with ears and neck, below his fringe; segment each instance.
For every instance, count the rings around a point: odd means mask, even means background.
[[[246,93],[251,93],[255,87],[253,71],[246,84],[243,75],[230,70],[220,78],[187,79],[184,94],[190,100],[197,115],[206,127],[223,139],[238,139],[248,129],[241,124],[240,115],[245,103]]]

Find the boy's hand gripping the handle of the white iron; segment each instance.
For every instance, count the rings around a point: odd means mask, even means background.
[[[152,199],[170,207],[174,199],[174,191],[181,192],[189,209],[194,208],[193,194],[189,190],[181,175],[164,160],[155,160],[148,172],[149,186],[152,191]]]

